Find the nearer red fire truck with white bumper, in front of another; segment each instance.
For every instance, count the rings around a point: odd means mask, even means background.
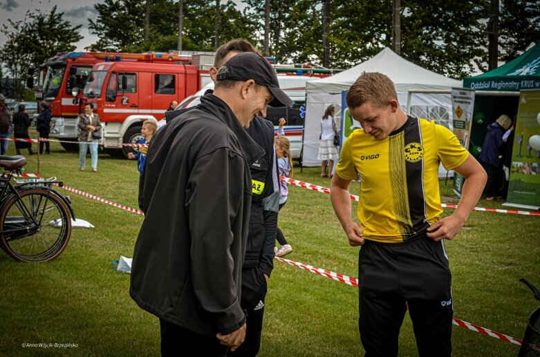
[[[165,116],[172,101],[180,102],[197,92],[201,73],[196,66],[102,62],[93,67],[80,99],[81,108],[92,103],[102,122],[104,148],[124,155],[141,138],[142,122]]]

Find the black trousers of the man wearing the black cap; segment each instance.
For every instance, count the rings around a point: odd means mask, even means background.
[[[216,336],[205,336],[160,319],[161,356],[227,356],[229,347]]]

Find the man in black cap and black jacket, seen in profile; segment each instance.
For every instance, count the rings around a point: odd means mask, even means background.
[[[130,296],[160,319],[165,356],[223,356],[245,337],[250,166],[264,155],[245,129],[288,97],[254,53],[232,57],[217,77],[214,94],[156,132],[140,177],[145,220]]]

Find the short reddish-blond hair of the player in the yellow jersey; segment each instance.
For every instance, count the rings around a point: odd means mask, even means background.
[[[366,102],[375,108],[383,108],[391,99],[398,101],[393,81],[378,72],[362,72],[351,88],[348,88],[346,97],[349,109],[358,108]]]

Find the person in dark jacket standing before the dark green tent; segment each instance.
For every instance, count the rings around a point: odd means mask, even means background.
[[[487,173],[487,184],[485,185],[486,200],[500,200],[502,198],[501,189],[503,189],[503,149],[508,140],[512,126],[512,119],[508,115],[501,115],[496,121],[487,127],[480,153],[480,160],[484,163]]]

